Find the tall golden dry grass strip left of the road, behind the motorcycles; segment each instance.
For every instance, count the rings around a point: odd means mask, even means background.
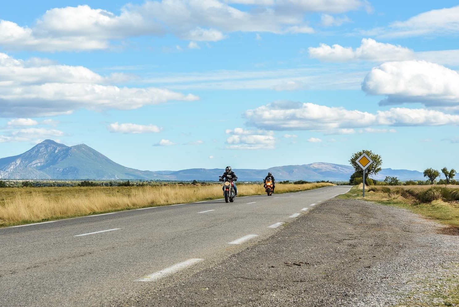
[[[276,184],[276,193],[306,191],[330,183]],[[262,184],[238,185],[239,196],[264,193]],[[221,185],[0,189],[0,227],[118,210],[222,198]]]

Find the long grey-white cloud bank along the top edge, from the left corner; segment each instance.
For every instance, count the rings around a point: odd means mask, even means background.
[[[308,12],[342,13],[364,0],[159,0],[127,4],[119,15],[87,5],[52,8],[31,27],[0,20],[0,45],[6,49],[97,50],[111,41],[143,35],[173,34],[194,41],[223,40],[225,33],[312,33]],[[248,4],[241,10],[231,4]],[[239,7],[239,6],[238,6]],[[336,23],[336,21],[335,21]]]

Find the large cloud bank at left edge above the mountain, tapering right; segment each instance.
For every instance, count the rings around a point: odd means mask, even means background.
[[[163,88],[118,87],[110,82],[110,77],[81,66],[31,67],[0,53],[0,117],[70,114],[79,108],[135,109],[169,100],[199,99]]]

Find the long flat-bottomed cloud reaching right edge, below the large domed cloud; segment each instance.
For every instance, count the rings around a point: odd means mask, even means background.
[[[274,102],[244,113],[247,125],[265,130],[309,130],[325,134],[352,134],[372,126],[459,125],[459,115],[436,110],[391,108],[375,114],[313,103]]]

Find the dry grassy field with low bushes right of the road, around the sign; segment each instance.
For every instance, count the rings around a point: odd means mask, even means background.
[[[341,198],[362,199],[362,184]],[[449,186],[370,186],[365,200],[409,209],[459,231],[459,187]],[[459,233],[458,233],[459,234]]]

